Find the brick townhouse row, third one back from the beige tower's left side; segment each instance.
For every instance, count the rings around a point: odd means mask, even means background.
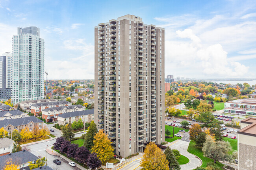
[[[70,106],[70,105],[71,103],[68,101],[36,103],[31,105],[31,113],[33,113],[34,116],[37,116],[38,113],[40,113],[42,110],[45,110],[47,108],[55,108],[55,107]]]

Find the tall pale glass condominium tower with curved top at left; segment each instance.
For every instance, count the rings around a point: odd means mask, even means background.
[[[18,27],[13,35],[13,103],[44,98],[44,57],[40,29]]]

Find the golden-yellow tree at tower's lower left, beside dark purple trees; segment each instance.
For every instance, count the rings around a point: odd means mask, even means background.
[[[108,136],[103,133],[103,130],[99,130],[94,136],[93,147],[91,147],[92,153],[95,152],[97,157],[103,163],[106,163],[111,157],[114,156],[114,148],[111,146],[111,142]]]

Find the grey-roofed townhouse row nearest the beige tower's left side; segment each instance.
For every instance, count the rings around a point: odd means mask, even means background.
[[[84,123],[94,121],[94,109],[92,110],[82,110],[82,111],[75,111],[69,113],[63,113],[58,115],[58,124],[67,124],[73,123],[74,121],[79,121],[82,119]]]

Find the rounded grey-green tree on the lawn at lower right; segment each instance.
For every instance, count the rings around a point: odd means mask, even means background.
[[[206,141],[202,148],[204,157],[213,159],[214,163],[219,160],[224,160],[226,155],[232,152],[232,148],[229,142],[226,141],[214,141],[210,135],[206,136]]]

